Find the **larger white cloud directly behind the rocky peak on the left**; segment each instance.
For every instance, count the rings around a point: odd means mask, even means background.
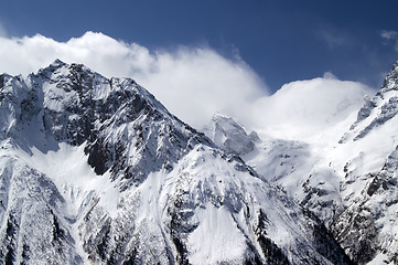
[[[198,128],[215,112],[245,119],[250,103],[267,95],[266,85],[245,62],[228,60],[208,47],[149,51],[101,33],[87,32],[67,42],[36,34],[0,38],[0,72],[12,75],[28,75],[60,59],[83,63],[107,77],[132,77],[173,114]]]

